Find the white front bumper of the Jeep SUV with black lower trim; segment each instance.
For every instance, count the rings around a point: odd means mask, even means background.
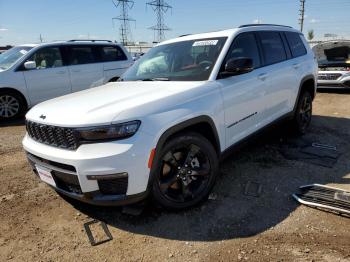
[[[41,144],[26,135],[23,147],[34,171],[36,166],[52,171],[56,191],[89,204],[117,206],[147,196],[152,149],[152,138],[147,136],[140,132],[129,139],[82,145],[70,151]],[[119,174],[126,176],[105,179]]]

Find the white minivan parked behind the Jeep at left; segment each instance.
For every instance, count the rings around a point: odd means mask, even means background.
[[[21,45],[0,55],[0,119],[58,96],[116,81],[133,64],[112,41]]]

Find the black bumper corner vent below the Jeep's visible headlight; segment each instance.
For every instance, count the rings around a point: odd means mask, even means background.
[[[97,183],[104,195],[125,195],[128,189],[128,177],[98,180]]]

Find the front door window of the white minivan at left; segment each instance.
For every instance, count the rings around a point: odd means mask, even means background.
[[[27,61],[34,61],[36,69],[46,69],[63,66],[62,56],[58,47],[46,47],[38,50]]]

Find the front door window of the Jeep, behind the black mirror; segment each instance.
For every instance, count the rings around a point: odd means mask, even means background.
[[[247,57],[253,59],[254,68],[261,66],[259,49],[253,33],[239,35],[230,47],[225,63],[232,58]]]

